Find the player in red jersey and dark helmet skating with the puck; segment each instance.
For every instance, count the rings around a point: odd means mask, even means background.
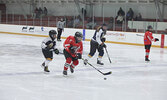
[[[78,59],[82,58],[83,44],[82,44],[82,33],[76,32],[74,36],[69,36],[65,40],[64,56],[66,62],[64,64],[63,75],[67,75],[67,70],[70,68],[71,73],[74,72],[75,66],[79,64]]]

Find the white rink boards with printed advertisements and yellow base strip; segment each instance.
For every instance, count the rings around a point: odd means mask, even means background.
[[[0,33],[7,34],[20,34],[20,35],[30,35],[30,36],[48,36],[49,30],[57,30],[56,27],[41,27],[41,26],[26,26],[26,25],[8,25],[0,24]],[[65,28],[62,33],[62,38],[65,39],[69,35],[74,35],[76,31],[83,32],[82,29]],[[95,30],[84,30],[85,40],[89,41],[94,35]],[[118,31],[107,31],[106,42],[107,43],[117,43],[117,44],[129,44],[129,45],[143,45],[144,33],[135,32],[118,32]],[[164,47],[167,48],[167,36],[164,36],[164,43],[161,41],[161,34],[153,34],[155,38],[159,38],[160,41],[153,42],[154,47]]]

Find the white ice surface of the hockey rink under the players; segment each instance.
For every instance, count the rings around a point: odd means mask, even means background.
[[[167,49],[151,48],[146,63],[144,47],[107,43],[112,63],[106,52],[103,66],[96,64],[97,53],[89,62],[111,75],[80,60],[75,72],[64,77],[62,54],[54,55],[49,74],[43,72],[44,38],[0,34],[0,100],[167,100]],[[60,52],[63,41],[57,42]],[[89,42],[83,45],[86,58]]]

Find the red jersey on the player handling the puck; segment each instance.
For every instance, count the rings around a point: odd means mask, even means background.
[[[65,40],[64,44],[63,44],[65,50],[72,56],[72,57],[76,57],[77,53],[82,54],[83,52],[83,44],[82,41],[76,43],[75,37],[74,36],[69,36],[67,37],[67,39]],[[75,52],[71,53],[70,52],[70,47],[74,48]]]

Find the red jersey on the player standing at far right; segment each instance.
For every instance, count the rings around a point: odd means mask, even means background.
[[[154,37],[152,36],[152,32],[146,31],[144,34],[144,45],[151,45],[152,41],[154,41]]]

